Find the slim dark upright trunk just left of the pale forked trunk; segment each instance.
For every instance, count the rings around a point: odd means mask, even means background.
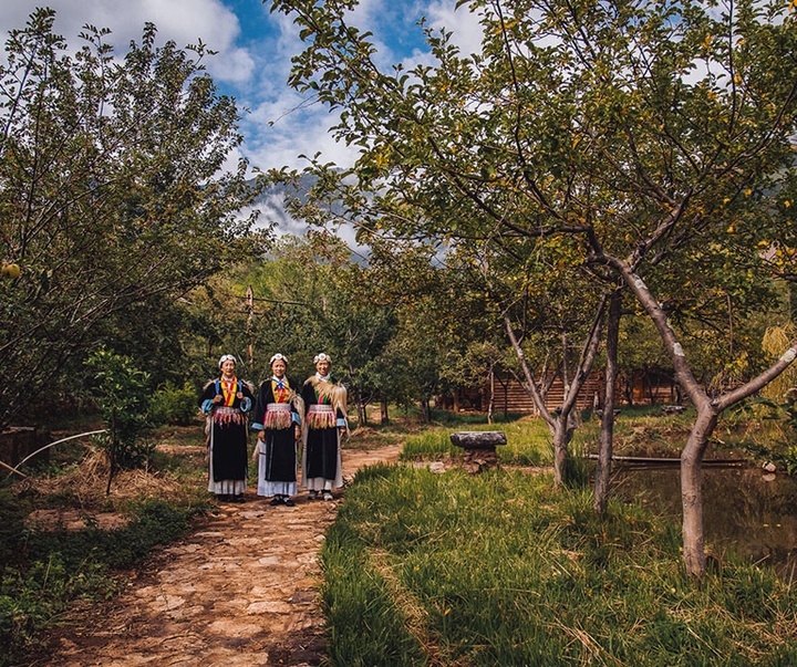
[[[600,451],[596,471],[596,490],[592,508],[599,514],[605,512],[609,500],[609,477],[614,440],[614,386],[617,383],[618,341],[620,337],[620,316],[622,314],[622,292],[615,291],[609,301],[607,320],[607,367],[605,395],[603,398],[603,418],[601,419]]]

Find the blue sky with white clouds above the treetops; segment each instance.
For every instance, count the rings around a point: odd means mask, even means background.
[[[382,62],[413,64],[427,58],[416,22],[421,17],[445,25],[457,41],[470,48],[478,40],[478,24],[466,10],[454,10],[454,0],[361,0],[355,23],[373,31]],[[55,32],[70,41],[82,25],[110,28],[110,41],[124,53],[139,39],[146,21],[155,23],[163,41],[179,46],[201,39],[218,55],[208,71],[225,93],[232,94],[248,112],[241,129],[241,153],[260,168],[300,166],[300,154],[321,150],[325,158],[348,161],[344,147],[335,145],[327,128],[332,119],[319,105],[304,105],[286,85],[290,59],[301,50],[297,28],[289,18],[270,13],[260,0],[9,0],[0,4],[0,33],[24,25],[37,7],[56,11]],[[301,111],[292,111],[301,108]]]

